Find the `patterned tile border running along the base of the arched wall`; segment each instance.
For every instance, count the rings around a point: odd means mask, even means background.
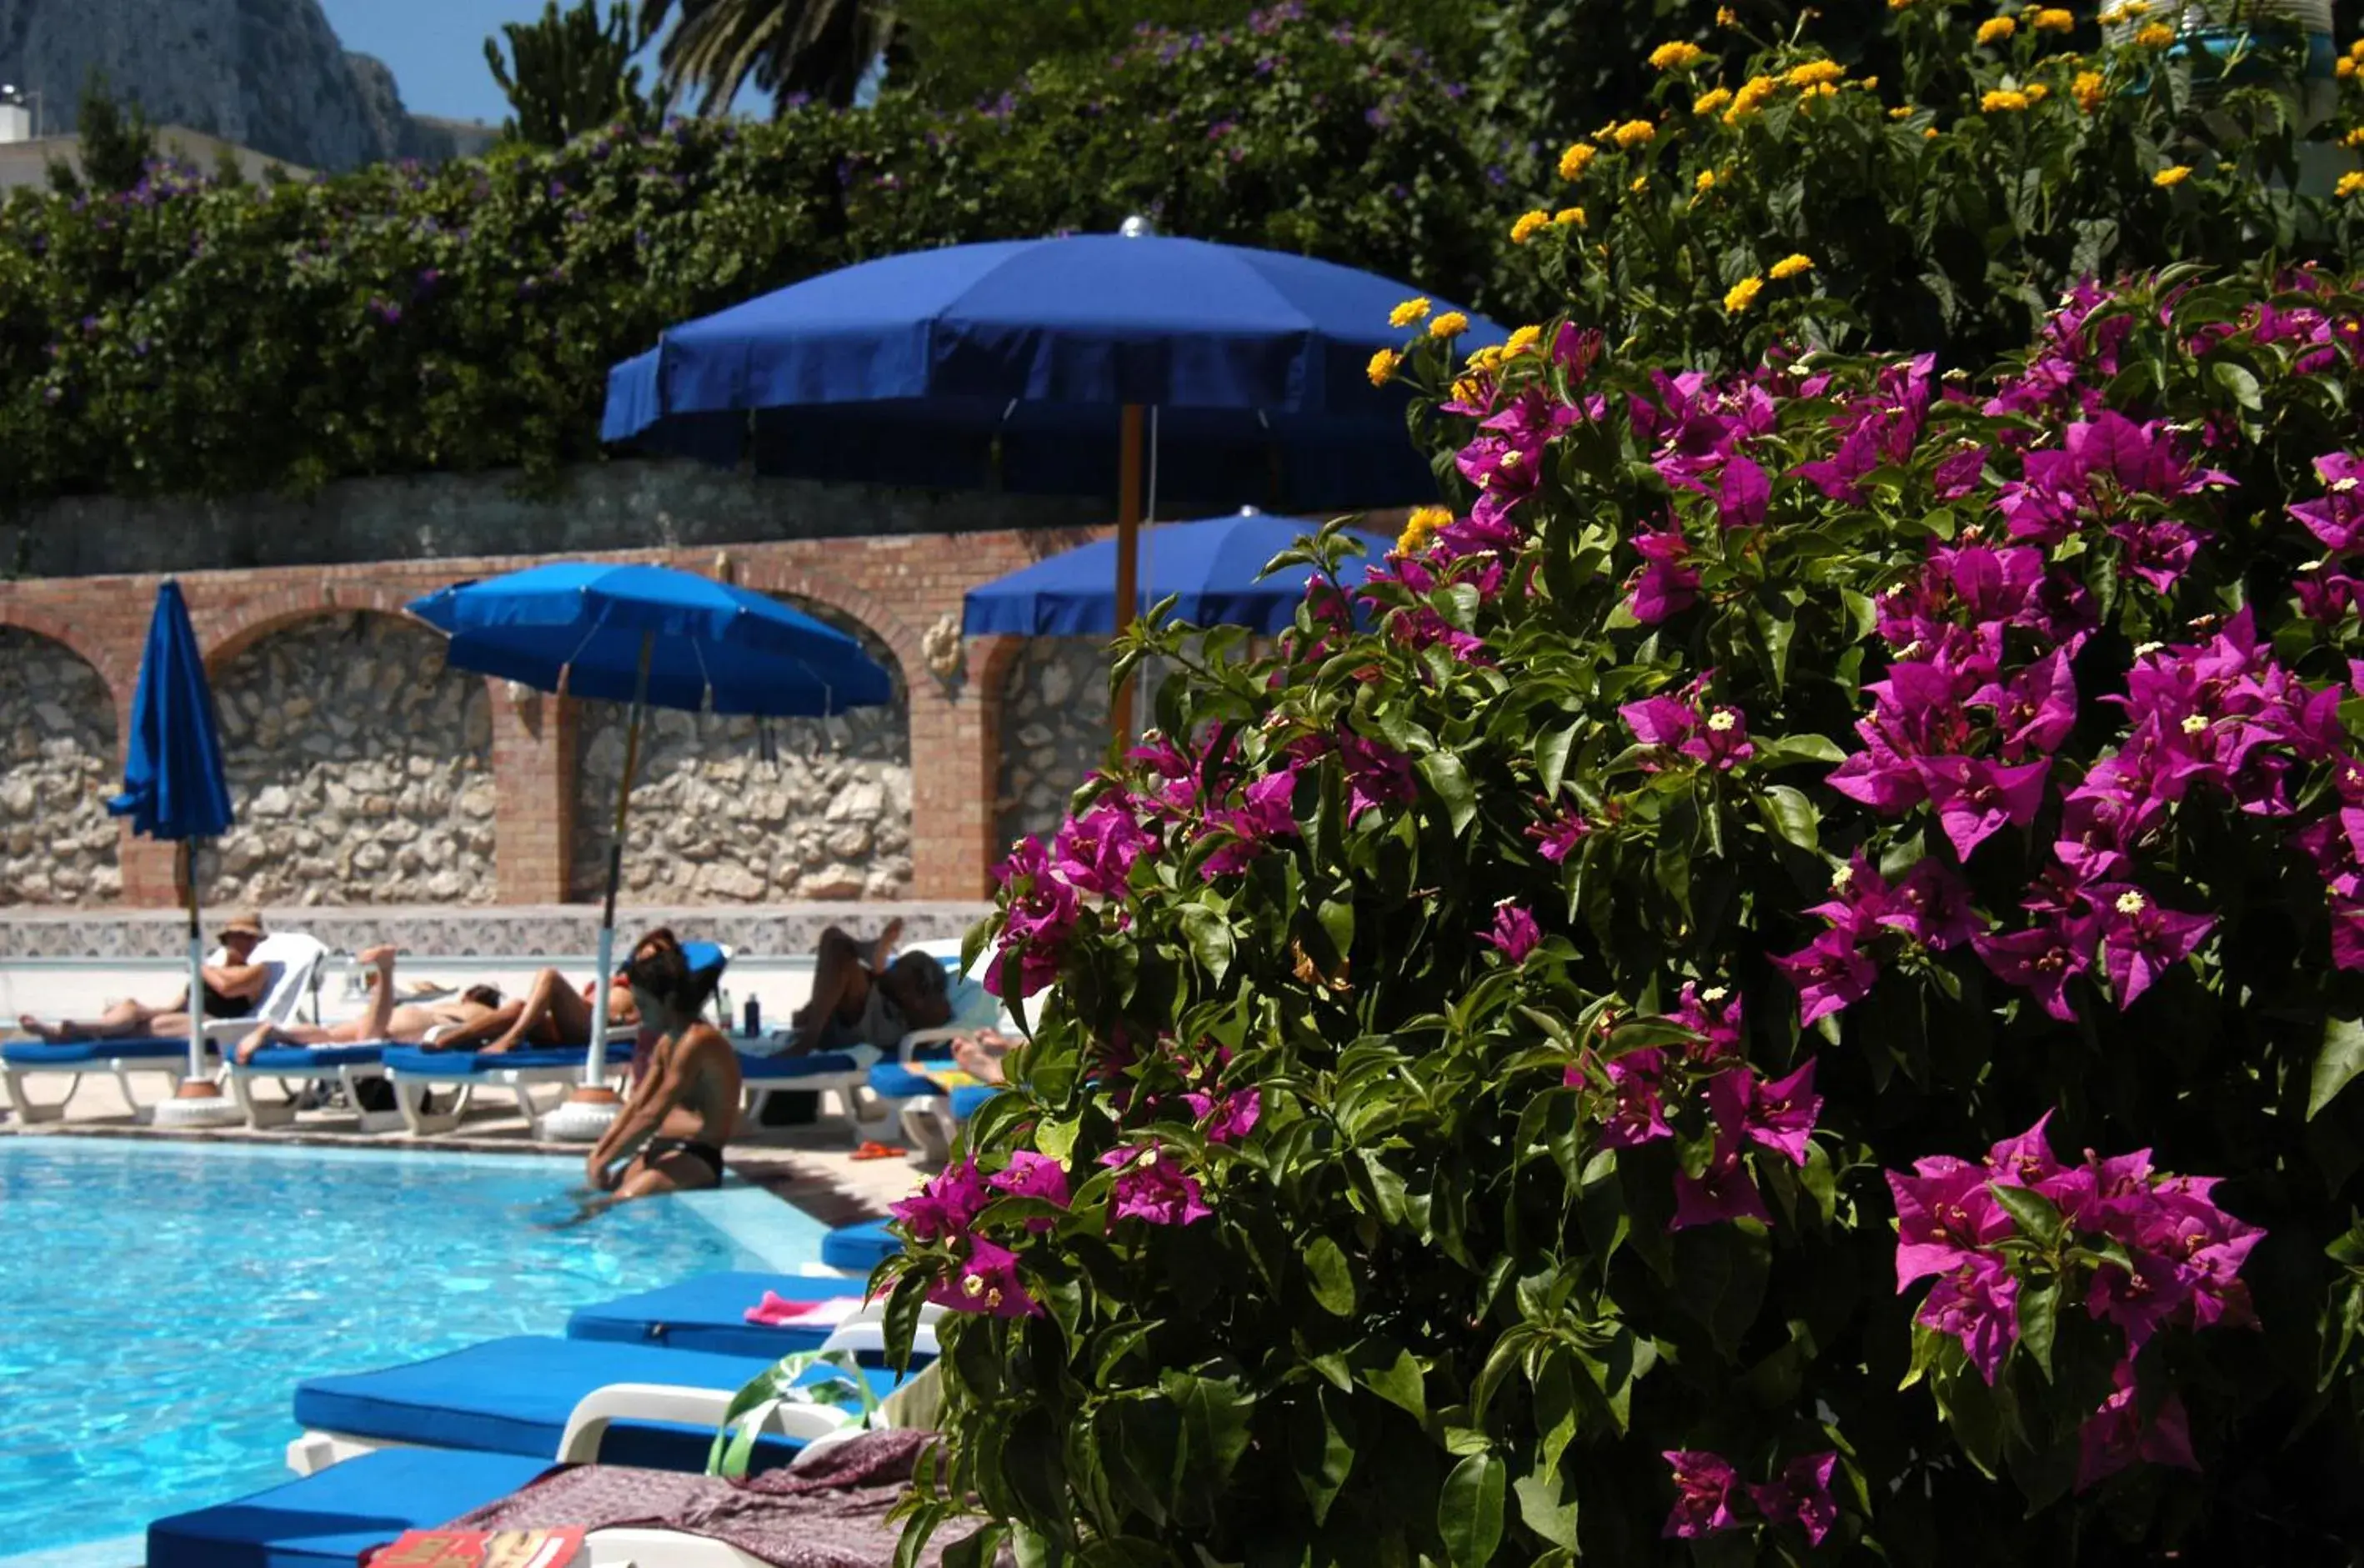
[[[870,937],[889,920],[903,920],[905,941],[946,941],[967,934],[993,911],[991,903],[773,903],[704,908],[626,908],[617,927],[626,939],[655,925],[681,937],[721,941],[745,955],[794,958],[811,953],[820,932],[842,925]],[[232,911],[208,911],[208,927]],[[591,906],[494,906],[494,908],[369,908],[312,906],[267,908],[269,929],[312,932],[336,951],[392,941],[421,958],[570,958],[598,948],[598,911]],[[0,911],[0,963],[12,958],[180,958],[184,948],[177,911]]]

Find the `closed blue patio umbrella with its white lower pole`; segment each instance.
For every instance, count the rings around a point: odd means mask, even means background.
[[[132,736],[123,759],[123,795],[106,802],[113,816],[132,818],[132,832],[180,844],[182,882],[189,892],[189,1076],[184,1097],[220,1095],[206,1071],[206,937],[199,922],[196,840],[222,837],[236,816],[229,778],[222,773],[222,721],[206,681],[206,657],[196,650],[189,605],[180,584],[156,584],[149,641],[132,688]]]

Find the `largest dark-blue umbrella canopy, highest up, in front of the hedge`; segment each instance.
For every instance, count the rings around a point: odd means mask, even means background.
[[[1170,501],[1435,499],[1373,388],[1404,284],[1279,251],[1076,234],[889,255],[669,329],[608,376],[600,435],[764,473],[1116,494],[1156,409]],[[1501,343],[1478,317],[1463,350]]]

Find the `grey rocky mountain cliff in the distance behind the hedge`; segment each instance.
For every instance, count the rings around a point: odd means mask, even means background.
[[[92,66],[151,121],[300,168],[452,151],[402,109],[392,71],[338,45],[317,0],[0,0],[0,80],[43,95],[45,132],[73,130]]]

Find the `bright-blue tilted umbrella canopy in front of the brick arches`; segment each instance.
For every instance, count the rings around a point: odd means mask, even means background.
[[[863,646],[775,598],[662,565],[537,565],[411,601],[456,669],[574,698],[816,717],[894,700]]]

